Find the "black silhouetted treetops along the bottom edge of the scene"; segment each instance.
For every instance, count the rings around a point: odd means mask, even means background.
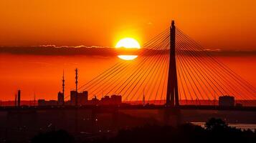
[[[177,127],[146,125],[132,129],[121,129],[113,137],[81,139],[64,130],[39,133],[31,139],[32,143],[41,142],[92,142],[92,143],[158,143],[158,142],[256,142],[256,132],[229,127],[221,119],[209,119],[206,128],[193,124],[181,124]]]

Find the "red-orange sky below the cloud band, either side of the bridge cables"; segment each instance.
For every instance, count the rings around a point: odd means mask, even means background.
[[[256,77],[252,74],[256,71],[255,56],[219,56],[217,58],[256,87]],[[34,93],[37,99],[57,99],[57,92],[62,90],[63,69],[65,69],[65,95],[69,96],[70,90],[75,88],[76,67],[79,69],[80,87],[117,61],[120,59],[116,56],[0,54],[0,100],[13,100],[17,89],[22,89],[22,100],[33,99]],[[92,90],[89,92],[91,93]],[[98,96],[101,97],[101,94]]]

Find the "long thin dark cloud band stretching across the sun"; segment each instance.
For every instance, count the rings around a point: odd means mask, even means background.
[[[141,51],[143,50],[143,51]],[[179,49],[179,54],[187,55],[191,52],[198,53],[207,51],[212,56],[256,56],[255,50],[222,50],[222,49],[204,49],[204,50],[187,50]],[[109,46],[56,46],[56,45],[39,45],[39,46],[0,46],[0,54],[29,54],[29,55],[86,55],[86,56],[117,56],[118,54],[138,54],[138,52],[149,53],[155,49],[115,49]],[[168,53],[169,50],[161,52]],[[159,53],[159,52],[158,52]]]

